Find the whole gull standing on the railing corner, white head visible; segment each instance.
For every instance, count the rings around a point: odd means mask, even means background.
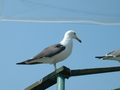
[[[64,38],[60,43],[51,45],[33,58],[16,64],[33,65],[48,63],[53,64],[54,69],[56,70],[56,63],[65,60],[71,54],[73,47],[72,39],[76,39],[81,43],[81,40],[77,37],[76,33],[73,30],[69,30],[65,33]]]

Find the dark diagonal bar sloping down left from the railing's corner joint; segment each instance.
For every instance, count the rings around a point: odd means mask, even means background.
[[[45,76],[44,78],[40,79],[39,81],[35,82],[34,84],[30,85],[24,90],[45,90],[46,88],[57,83],[57,76],[60,74],[64,75],[65,78],[68,78],[70,74],[70,69],[63,66]]]

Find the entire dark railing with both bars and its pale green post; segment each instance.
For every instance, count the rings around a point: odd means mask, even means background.
[[[36,83],[30,85],[24,90],[45,90],[56,83],[57,90],[65,90],[65,78],[68,79],[72,76],[107,73],[115,71],[120,71],[120,66],[77,70],[70,70],[69,68],[63,66],[57,69],[56,71],[50,73],[49,75],[45,76],[41,80],[37,81]]]

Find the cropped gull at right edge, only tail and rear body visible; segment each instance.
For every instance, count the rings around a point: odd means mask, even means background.
[[[96,56],[95,58],[99,58],[102,60],[115,60],[120,62],[120,49],[112,51],[105,56]]]

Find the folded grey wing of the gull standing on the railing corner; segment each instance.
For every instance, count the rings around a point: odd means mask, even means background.
[[[52,57],[52,56],[60,53],[64,49],[65,49],[65,46],[63,46],[61,44],[54,44],[54,45],[51,45],[51,46],[45,48],[42,52],[40,52],[39,54],[34,56],[32,59]]]

